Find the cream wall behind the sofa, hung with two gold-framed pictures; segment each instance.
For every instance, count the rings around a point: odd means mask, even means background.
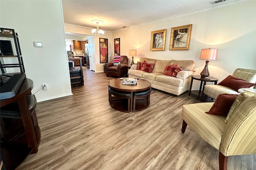
[[[256,1],[246,1],[231,6],[182,16],[162,22],[153,22],[114,32],[112,38],[120,38],[120,51],[128,55],[129,49],[137,49],[139,57],[154,59],[192,59],[194,75],[200,75],[205,61],[200,60],[203,48],[218,48],[217,60],[209,62],[210,75],[220,82],[236,68],[256,69]],[[169,50],[172,27],[192,25],[189,50]],[[150,51],[151,31],[167,29],[164,51]],[[131,61],[131,56],[129,62]],[[192,89],[199,88],[194,81]]]

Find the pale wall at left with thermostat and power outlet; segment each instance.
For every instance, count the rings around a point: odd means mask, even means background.
[[[0,26],[18,33],[26,77],[34,82],[38,101],[72,95],[61,0],[1,0]],[[34,47],[42,41],[44,47]]]

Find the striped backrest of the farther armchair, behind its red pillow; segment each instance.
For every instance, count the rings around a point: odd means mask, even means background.
[[[250,83],[256,82],[256,70],[253,69],[238,68],[234,71],[232,76],[239,79],[243,79],[244,81],[248,81]]]

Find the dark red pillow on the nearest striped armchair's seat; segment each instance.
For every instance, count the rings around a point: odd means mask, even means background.
[[[228,112],[230,110],[230,107],[236,100],[236,97],[238,95],[234,94],[220,94],[218,95],[215,103],[212,105],[210,111],[205,112],[207,114],[211,115],[221,115],[221,116],[227,116]]]

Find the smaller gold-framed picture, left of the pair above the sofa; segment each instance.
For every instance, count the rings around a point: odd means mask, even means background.
[[[151,32],[150,51],[161,51],[165,47],[166,29]]]

